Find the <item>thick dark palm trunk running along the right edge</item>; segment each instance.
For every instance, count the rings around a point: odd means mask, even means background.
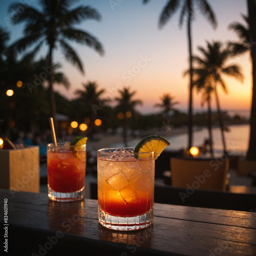
[[[256,3],[255,0],[247,0],[249,14],[249,34],[252,44],[256,41]],[[252,59],[252,100],[250,116],[250,140],[247,151],[247,160],[256,159],[256,47],[251,47]]]

